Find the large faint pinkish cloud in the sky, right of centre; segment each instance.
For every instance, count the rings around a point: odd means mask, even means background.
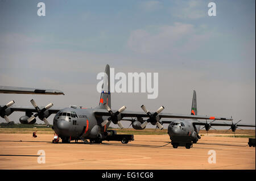
[[[127,41],[128,47],[134,52],[143,54],[164,53],[169,54],[189,49],[195,49],[209,39],[211,33],[204,32],[204,28],[196,28],[192,24],[174,23],[173,26],[161,26],[156,32],[135,30],[130,33]]]

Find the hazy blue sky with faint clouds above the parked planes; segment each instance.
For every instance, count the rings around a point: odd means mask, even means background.
[[[186,113],[196,89],[203,115],[216,110],[255,122],[255,1],[41,1],[42,17],[38,2],[0,1],[1,85],[61,89],[65,98],[49,97],[59,106],[93,107],[96,75],[108,63],[117,71],[159,72],[158,99],[114,95],[131,107],[171,102],[170,112]],[[209,2],[217,16],[208,16]],[[30,106],[29,96],[15,98]]]

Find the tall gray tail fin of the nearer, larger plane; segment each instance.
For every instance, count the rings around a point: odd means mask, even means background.
[[[111,94],[110,94],[110,68],[106,65],[105,76],[102,85],[101,98],[99,103],[99,108],[105,108],[104,104],[108,104],[111,108]]]

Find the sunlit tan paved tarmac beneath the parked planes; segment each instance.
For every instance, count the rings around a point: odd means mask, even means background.
[[[134,135],[122,144],[52,144],[52,134],[0,134],[0,169],[255,169],[248,138],[202,136],[193,148],[172,148],[168,134]],[[44,150],[46,156],[39,157]],[[209,150],[216,163],[209,163]],[[46,163],[38,163],[45,158]],[[213,159],[211,159],[213,161]]]

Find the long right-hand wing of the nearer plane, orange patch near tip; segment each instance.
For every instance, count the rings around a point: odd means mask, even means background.
[[[118,110],[113,110],[117,112]],[[94,110],[94,114],[98,116],[110,116],[108,110],[97,109]],[[149,117],[147,113],[142,111],[123,111],[120,113],[122,117]],[[176,118],[176,119],[210,119],[210,120],[233,120],[232,118],[226,117],[214,117],[214,116],[198,116],[198,115],[183,115],[176,113],[159,113],[159,118]],[[125,120],[125,119],[122,119]]]

